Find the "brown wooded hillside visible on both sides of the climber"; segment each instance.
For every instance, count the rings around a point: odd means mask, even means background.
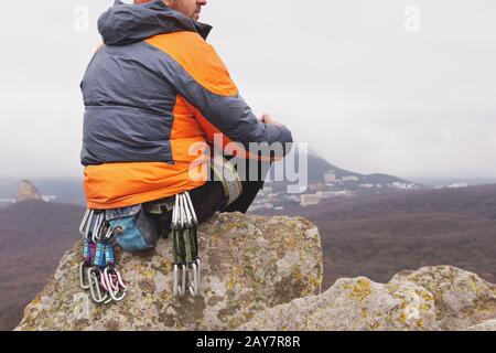
[[[0,211],[0,329],[12,329],[79,238],[80,206],[22,202]],[[262,215],[272,215],[265,211]],[[496,282],[496,185],[405,191],[288,206],[319,226],[324,285],[448,264]]]

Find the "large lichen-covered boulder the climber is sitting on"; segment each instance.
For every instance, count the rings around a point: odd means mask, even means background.
[[[231,330],[265,309],[321,291],[321,239],[304,218],[217,214],[201,225],[200,247],[197,298],[172,296],[170,244],[161,240],[148,254],[122,255],[130,292],[100,306],[78,287],[79,242],[15,330]]]

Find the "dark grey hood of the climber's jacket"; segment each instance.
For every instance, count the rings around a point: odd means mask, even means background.
[[[162,0],[144,4],[127,4],[117,0],[98,19],[98,32],[107,45],[126,45],[157,34],[183,31],[196,32],[206,40],[211,30],[211,25],[188,19]]]

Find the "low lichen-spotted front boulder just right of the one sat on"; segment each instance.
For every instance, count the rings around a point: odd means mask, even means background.
[[[438,330],[434,310],[434,298],[422,287],[359,277],[260,312],[239,330]]]

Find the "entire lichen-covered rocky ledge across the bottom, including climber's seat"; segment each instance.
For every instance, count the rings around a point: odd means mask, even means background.
[[[321,292],[317,228],[296,217],[217,214],[200,228],[202,290],[171,292],[168,242],[123,254],[125,301],[95,304],[78,287],[82,244],[24,311],[17,330],[496,330],[496,286],[450,267],[388,284],[339,279]]]

